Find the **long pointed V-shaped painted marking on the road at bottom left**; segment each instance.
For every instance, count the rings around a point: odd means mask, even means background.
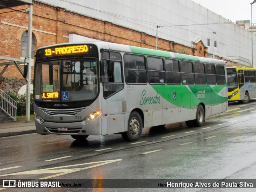
[[[119,162],[119,161],[122,161],[122,159],[114,159],[114,160],[106,160],[106,161],[98,161],[98,162],[89,162],[89,163],[74,164],[74,165],[52,167],[52,168],[30,170],[30,171],[22,171],[22,172],[16,172],[16,173],[3,174],[3,175],[0,175],[0,177],[10,176],[10,175],[58,173],[58,174],[47,176],[47,177],[44,177],[44,178],[39,178],[39,180],[42,180],[42,179],[54,178],[54,177],[57,177],[57,176],[70,174],[70,173],[78,172],[78,171],[81,171],[81,170],[86,170],[86,169],[90,169],[90,168],[94,168],[94,167],[97,167],[97,166],[102,166],[102,165],[106,165],[106,164],[110,164],[110,163],[114,163],[114,162]],[[75,167],[75,166],[82,166],[82,165],[89,165],[89,164],[96,164],[96,165],[92,165],[92,166],[88,166],[88,167],[82,167],[82,168],[60,169],[60,168]]]

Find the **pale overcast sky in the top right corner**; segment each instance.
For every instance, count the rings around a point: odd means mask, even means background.
[[[251,20],[251,4],[254,0],[192,0],[224,18]],[[252,4],[252,22],[256,24],[256,3]]]

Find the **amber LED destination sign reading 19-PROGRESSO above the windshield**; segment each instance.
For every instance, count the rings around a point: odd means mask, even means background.
[[[53,47],[53,48],[44,49],[44,56],[80,54],[80,53],[87,53],[88,51],[89,51],[89,48],[87,45]]]

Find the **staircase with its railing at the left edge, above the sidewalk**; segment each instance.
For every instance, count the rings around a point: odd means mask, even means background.
[[[17,103],[0,89],[0,122],[16,121]]]

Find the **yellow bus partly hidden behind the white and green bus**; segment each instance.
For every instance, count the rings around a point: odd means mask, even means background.
[[[228,101],[248,103],[256,98],[256,68],[227,67]]]

